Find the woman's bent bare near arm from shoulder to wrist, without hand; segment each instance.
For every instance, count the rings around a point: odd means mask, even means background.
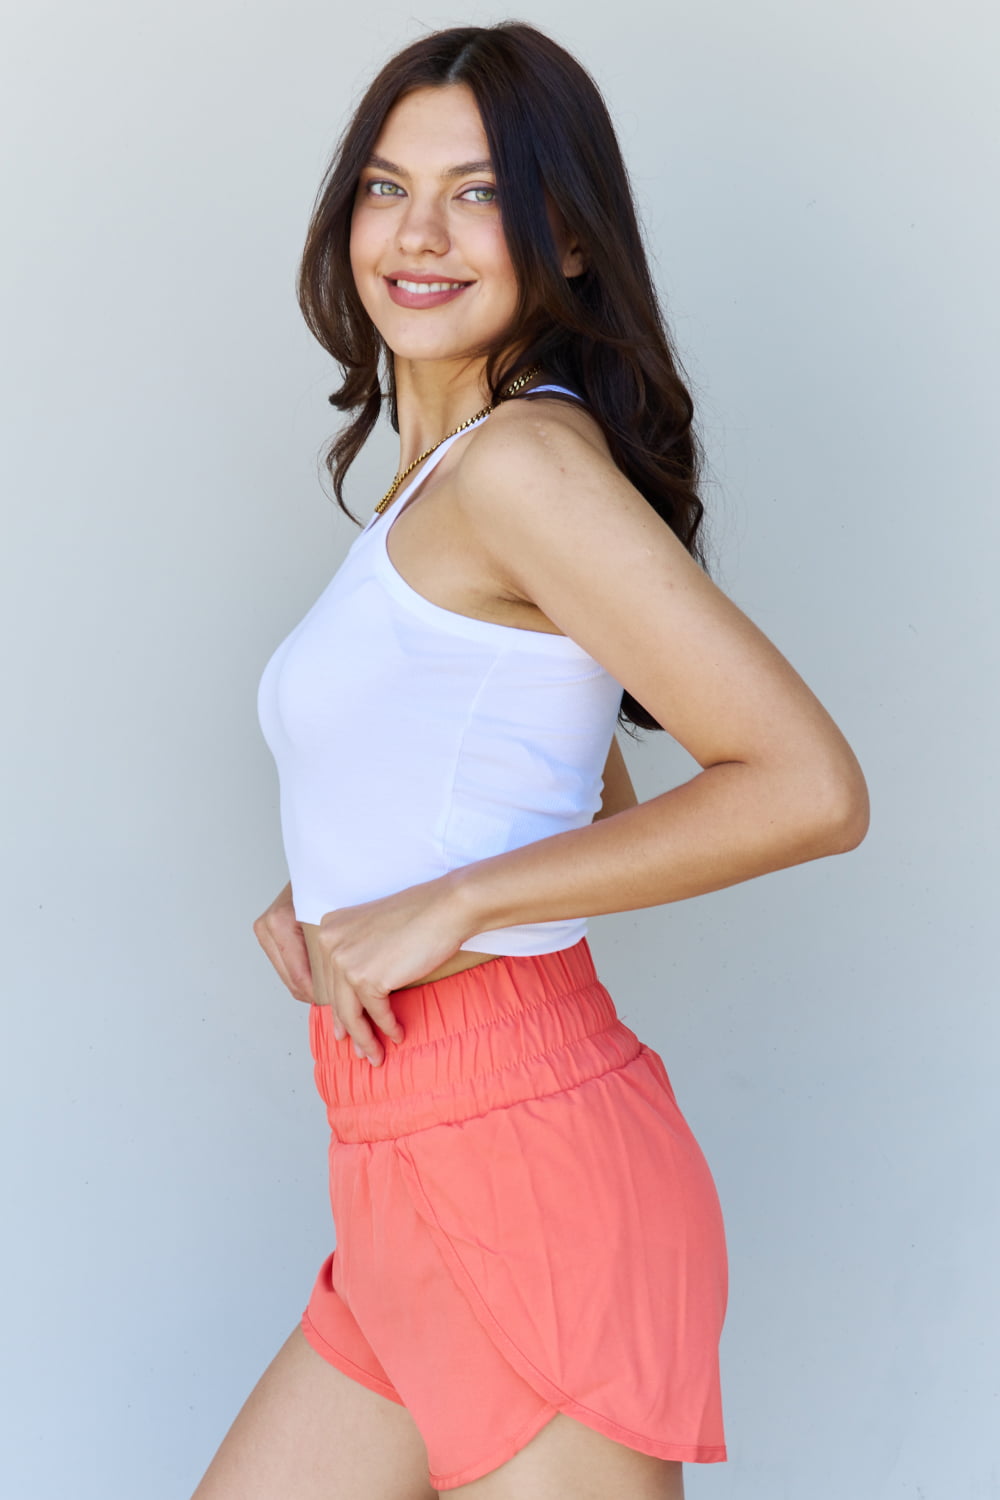
[[[868,789],[844,735],[610,460],[532,412],[484,429],[462,478],[463,510],[517,592],[702,766],[613,812],[609,784],[586,828],[451,872],[465,939],[658,906],[861,843]]]

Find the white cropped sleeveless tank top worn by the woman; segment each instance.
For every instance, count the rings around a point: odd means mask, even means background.
[[[474,426],[372,514],[264,668],[258,717],[298,921],[583,828],[601,806],[621,684],[568,636],[433,604],[388,558],[412,492]],[[553,952],[586,930],[585,916],[522,922],[462,948]]]

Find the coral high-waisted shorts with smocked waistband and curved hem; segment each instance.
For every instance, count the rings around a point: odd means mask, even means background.
[[[394,990],[358,1058],[313,1005],[336,1250],[301,1328],[405,1406],[448,1490],[556,1412],[657,1458],[726,1460],[723,1215],[658,1053],[586,938]]]

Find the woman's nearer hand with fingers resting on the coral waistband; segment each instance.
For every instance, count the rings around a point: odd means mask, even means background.
[[[316,1004],[333,1008],[337,1041],[349,1034],[358,1058],[378,1066],[384,1050],[372,1022],[394,1042],[403,1040],[390,992],[433,974],[468,936],[457,886],[447,874],[327,912],[313,972]]]

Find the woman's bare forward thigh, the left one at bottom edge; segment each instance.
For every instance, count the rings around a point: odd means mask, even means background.
[[[267,1366],[192,1500],[436,1500],[406,1410],[369,1390],[297,1326]]]

